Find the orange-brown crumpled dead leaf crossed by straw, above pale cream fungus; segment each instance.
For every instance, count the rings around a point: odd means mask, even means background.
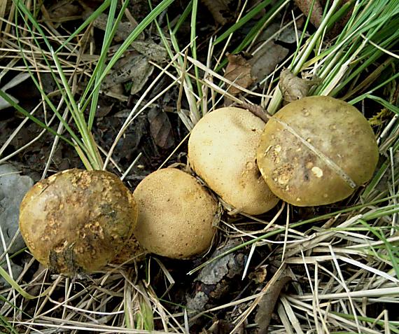
[[[228,55],[228,66],[225,71],[225,78],[236,83],[242,88],[248,88],[253,84],[254,78],[251,76],[251,64],[242,55]],[[228,92],[237,95],[241,90],[230,86]]]

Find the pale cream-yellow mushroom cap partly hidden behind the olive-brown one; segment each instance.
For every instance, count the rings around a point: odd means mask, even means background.
[[[223,201],[246,214],[262,214],[279,201],[256,165],[264,127],[248,110],[221,108],[201,118],[188,140],[188,160],[195,173]]]

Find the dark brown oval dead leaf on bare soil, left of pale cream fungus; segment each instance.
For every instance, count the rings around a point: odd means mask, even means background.
[[[151,136],[157,146],[165,150],[174,146],[172,125],[165,111],[152,108],[148,111],[148,122],[150,123]]]

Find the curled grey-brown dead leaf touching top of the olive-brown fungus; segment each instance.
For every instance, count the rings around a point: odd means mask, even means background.
[[[294,76],[288,69],[283,69],[280,74],[279,88],[285,102],[293,102],[306,97],[313,85],[320,83],[320,80],[304,80]]]

